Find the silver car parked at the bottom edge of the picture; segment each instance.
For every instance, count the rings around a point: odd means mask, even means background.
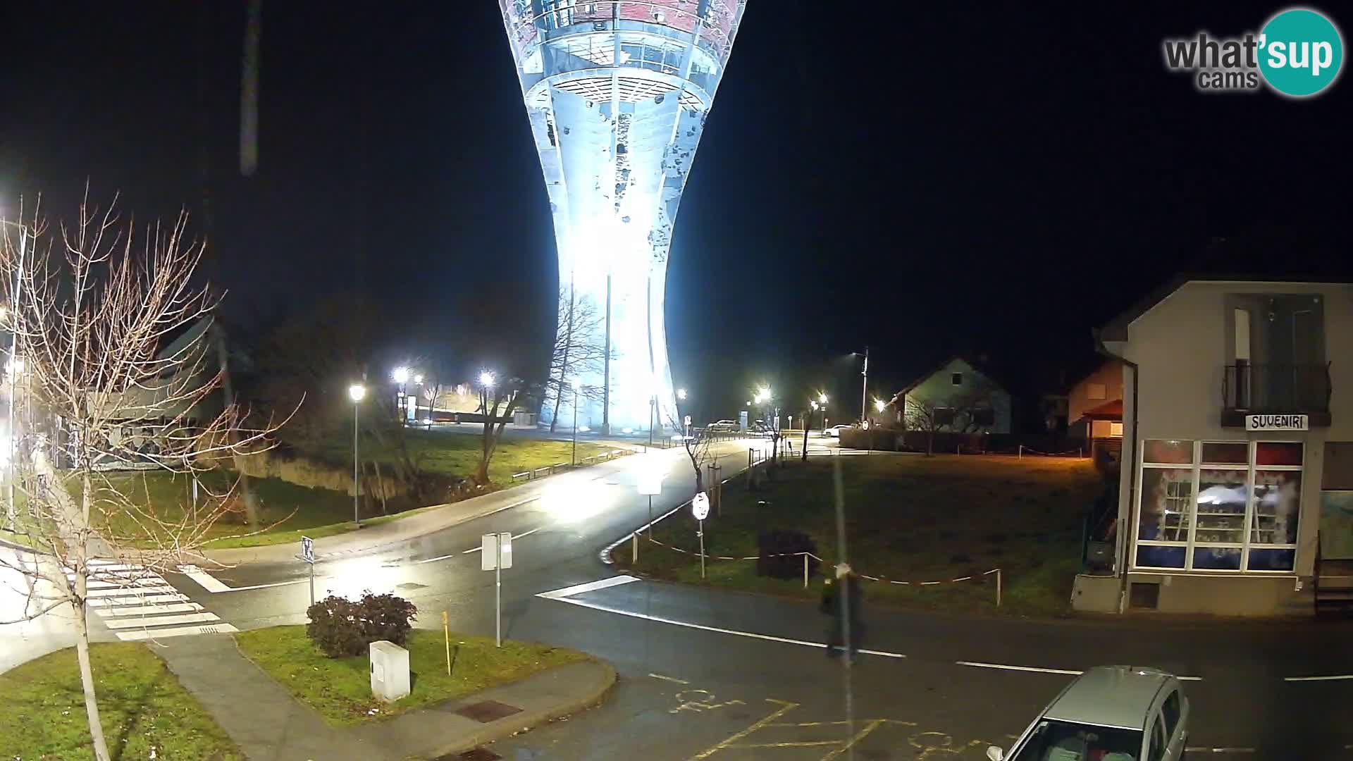
[[[992,761],[1178,761],[1188,742],[1180,680],[1142,666],[1096,666],[1066,685]]]

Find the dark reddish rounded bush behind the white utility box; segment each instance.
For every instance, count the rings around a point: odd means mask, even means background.
[[[306,636],[330,658],[361,655],[372,642],[387,639],[403,646],[409,640],[418,608],[394,594],[363,593],[353,603],[329,596],[306,611]]]

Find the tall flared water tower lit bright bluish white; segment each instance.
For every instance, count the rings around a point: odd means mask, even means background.
[[[598,316],[560,340],[603,347],[556,368],[601,398],[579,425],[676,421],[663,297],[667,251],[747,0],[499,0],[549,191],[561,298]],[[564,321],[561,321],[564,322]],[[572,395],[560,399],[571,420]],[[564,410],[568,410],[567,413]],[[555,413],[547,404],[545,422]]]

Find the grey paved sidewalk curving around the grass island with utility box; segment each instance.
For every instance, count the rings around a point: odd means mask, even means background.
[[[333,727],[245,658],[229,635],[175,638],[152,650],[249,761],[436,758],[594,705],[616,682],[616,670],[606,664],[570,664],[390,720]],[[486,700],[521,711],[483,723],[456,714]]]

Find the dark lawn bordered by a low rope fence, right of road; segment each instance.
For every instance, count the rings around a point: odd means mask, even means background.
[[[723,515],[705,521],[709,555],[758,554],[756,535],[798,529],[825,563],[804,589],[802,577],[756,575],[755,561],[709,561],[705,584],[817,599],[821,574],[836,563],[832,469],[840,464],[847,550],[862,574],[939,581],[1003,569],[1001,612],[1058,616],[1070,608],[1080,567],[1081,520],[1103,489],[1091,460],[877,454],[793,460],[760,492],[739,479],[724,487]],[[758,501],[766,501],[758,508]],[[658,542],[697,550],[695,521],[682,510],[653,531]],[[628,546],[614,557],[630,566]],[[701,584],[700,561],[640,540],[635,570]],[[951,611],[994,611],[994,578],[897,585],[865,581],[866,600]]]

